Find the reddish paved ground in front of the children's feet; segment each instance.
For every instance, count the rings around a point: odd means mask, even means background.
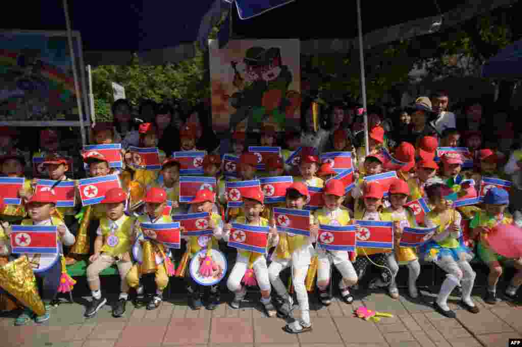
[[[404,295],[405,293],[401,293]],[[14,327],[13,318],[0,318],[1,347],[505,347],[509,338],[522,338],[522,306],[500,302],[485,304],[473,315],[458,306],[457,319],[438,315],[429,306],[431,294],[411,301],[406,296],[393,300],[384,293],[372,293],[352,305],[334,301],[326,308],[312,305],[313,331],[299,336],[283,332],[285,321],[266,318],[257,305],[244,303],[240,310],[221,304],[215,311],[194,311],[179,296],[153,311],[127,304],[125,317],[112,318],[106,305],[94,318],[83,317],[85,300],[53,308],[44,325]],[[393,313],[374,323],[353,317],[353,309]],[[315,306],[315,307],[314,307]],[[294,315],[298,315],[297,309]]]

